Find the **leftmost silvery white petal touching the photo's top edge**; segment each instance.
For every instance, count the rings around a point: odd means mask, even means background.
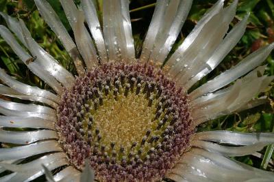
[[[34,2],[36,3],[36,6],[42,18],[47,22],[49,27],[51,27],[54,33],[58,36],[66,51],[69,52],[69,55],[71,55],[71,57],[73,58],[78,74],[83,75],[84,66],[79,57],[77,47],[71,39],[69,33],[66,31],[66,28],[62,24],[58,15],[54,12],[53,8],[46,0],[35,0]]]

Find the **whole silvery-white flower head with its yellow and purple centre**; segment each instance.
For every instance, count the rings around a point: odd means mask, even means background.
[[[41,103],[0,100],[0,142],[14,144],[0,149],[0,170],[11,171],[2,181],[32,181],[44,173],[48,181],[273,179],[271,172],[228,158],[260,151],[274,143],[273,133],[196,131],[210,119],[266,102],[253,97],[273,80],[259,65],[274,44],[189,91],[245,32],[249,14],[227,33],[238,1],[225,8],[223,0],[213,5],[169,58],[192,1],[157,1],[140,57],[128,1],[103,1],[101,29],[92,1],[82,0],[80,10],[73,0],[60,0],[75,41],[46,0],[34,1],[78,75],[36,43],[22,20],[0,13],[23,45],[0,25],[3,39],[53,89],[25,85],[0,70],[7,85],[0,85],[1,94]],[[29,130],[10,129],[18,127]],[[51,170],[57,171],[54,176]]]

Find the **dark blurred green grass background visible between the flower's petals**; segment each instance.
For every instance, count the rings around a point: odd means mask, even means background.
[[[73,37],[73,32],[66,20],[62,6],[58,0],[48,0],[55,12],[58,13],[66,29]],[[201,16],[211,7],[216,0],[194,0],[192,9],[182,28],[173,50],[182,43],[184,37],[195,27]],[[225,5],[232,1],[225,1]],[[79,5],[79,0],[75,1]],[[101,10],[103,0],[97,0],[98,14],[101,19]],[[136,46],[136,55],[140,55],[142,41],[149,27],[155,0],[132,0],[129,9],[131,10],[132,29]],[[47,26],[44,20],[40,18],[34,1],[32,0],[0,0],[0,11],[7,12],[11,16],[22,18],[34,39],[47,50],[55,59],[66,67],[66,69],[75,73],[75,67],[68,53],[64,50],[62,44],[56,35]],[[237,46],[225,57],[225,60],[208,76],[198,82],[192,89],[199,87],[207,80],[224,72],[233,65],[236,65],[244,57],[254,50],[274,42],[274,1],[273,0],[239,0],[236,17],[231,23],[233,27],[238,20],[241,20],[245,14],[250,12],[247,31]],[[0,18],[0,24],[5,25],[3,18]],[[9,72],[12,76],[18,78],[29,85],[36,85],[41,88],[49,89],[37,76],[32,74],[21,60],[16,57],[8,44],[0,37],[0,66]],[[274,75],[274,51],[265,61],[268,64],[265,74]],[[274,83],[271,83],[273,86]],[[233,130],[240,132],[274,132],[273,122],[273,96],[274,89],[269,87],[264,93],[258,96],[266,95],[269,98],[269,104],[264,104],[252,110],[235,113],[201,125],[198,130]],[[273,145],[265,147],[263,151],[254,155],[236,157],[236,160],[245,162],[257,168],[274,171],[273,166]],[[271,158],[272,157],[272,158]],[[270,159],[270,160],[267,160]]]

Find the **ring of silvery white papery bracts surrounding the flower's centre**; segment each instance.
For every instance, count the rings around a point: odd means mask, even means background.
[[[264,76],[266,66],[260,66],[273,50],[274,43],[252,52],[238,65],[191,93],[187,92],[221,63],[244,34],[249,14],[227,32],[236,14],[237,0],[227,7],[223,7],[224,0],[216,2],[168,60],[166,57],[170,54],[190,11],[190,0],[157,1],[140,57],[136,57],[134,50],[129,1],[103,1],[101,26],[92,0],[82,0],[79,7],[73,0],[60,0],[73,30],[74,40],[46,0],[34,1],[42,18],[73,59],[79,76],[84,78],[86,72],[97,70],[97,67],[105,63],[139,63],[153,65],[157,69],[163,67],[166,77],[174,80],[177,89],[182,87],[184,94],[188,95],[192,128],[210,119],[267,102],[265,97],[256,96],[264,91],[274,78]],[[32,181],[44,174],[47,181],[93,181],[101,173],[93,171],[88,160],[82,170],[79,170],[79,166],[73,166],[74,163],[69,161],[70,158],[66,155],[68,151],[62,146],[66,141],[60,142],[62,137],[56,128],[63,91],[70,90],[72,85],[75,85],[76,76],[35,42],[22,20],[12,18],[4,12],[0,12],[0,15],[8,26],[0,25],[1,37],[29,70],[54,91],[53,93],[26,85],[0,70],[0,80],[4,84],[0,85],[1,95],[36,102],[22,104],[0,100],[0,142],[12,144],[0,149],[0,171],[11,171],[9,175],[2,175],[0,181]],[[27,60],[32,57],[36,59],[29,63]],[[115,87],[118,85],[119,91],[120,82],[115,80],[114,84]],[[130,87],[128,84],[125,88],[129,90]],[[141,86],[137,84],[136,87]],[[104,87],[106,91],[109,91],[109,88]],[[147,99],[151,99],[149,96]],[[161,106],[162,104],[161,102]],[[14,130],[18,128],[24,130]],[[259,170],[229,158],[251,155],[273,143],[273,133],[197,132],[191,136],[189,150],[180,153],[175,164],[166,170],[166,173],[151,177],[151,180],[167,178],[174,181],[273,181],[273,172]],[[114,154],[116,156],[116,153]],[[55,169],[61,170],[52,175],[51,170]],[[131,178],[125,175],[126,181],[134,179],[145,177]]]

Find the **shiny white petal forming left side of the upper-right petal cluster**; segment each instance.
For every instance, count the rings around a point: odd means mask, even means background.
[[[209,20],[212,19],[213,16],[216,14],[219,14],[219,12],[223,8],[223,0],[219,0],[217,3],[215,3],[210,10],[197,22],[197,25],[194,29],[189,33],[189,35],[186,37],[184,42],[177,48],[177,50],[174,52],[174,54],[171,56],[169,61],[166,62],[166,65],[168,67],[172,67],[177,61],[179,61],[179,56],[182,55],[184,51],[186,51],[189,46],[197,39],[200,31],[203,29],[203,27],[208,23]],[[177,59],[177,60],[176,60]]]

